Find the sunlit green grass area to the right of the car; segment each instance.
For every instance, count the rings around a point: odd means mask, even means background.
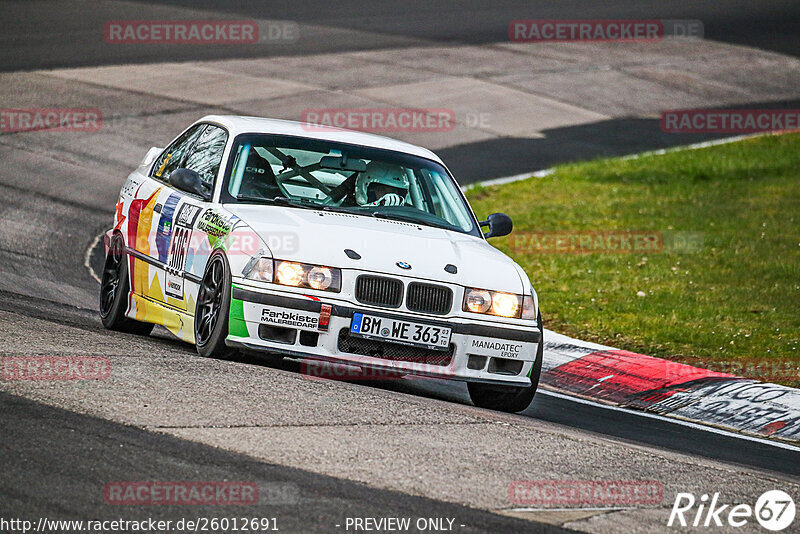
[[[479,217],[503,211],[514,220],[512,237],[492,244],[528,273],[548,328],[721,370],[800,364],[800,134],[563,165],[467,196]],[[665,246],[647,254],[511,246],[527,232],[564,230],[661,232]],[[676,235],[694,246],[670,246]],[[800,385],[794,377],[761,378]]]

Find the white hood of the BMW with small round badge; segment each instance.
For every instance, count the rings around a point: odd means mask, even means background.
[[[475,236],[412,223],[279,206],[225,205],[276,259],[522,293],[514,262]],[[345,249],[361,259],[352,259]],[[402,269],[397,264],[411,266]],[[457,274],[444,270],[448,264]]]

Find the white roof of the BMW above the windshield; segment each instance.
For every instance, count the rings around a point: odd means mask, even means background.
[[[277,135],[292,135],[296,137],[306,137],[309,139],[321,139],[323,141],[335,141],[339,143],[349,143],[352,145],[362,145],[372,148],[382,148],[394,150],[406,154],[413,154],[422,158],[430,159],[442,163],[439,156],[428,150],[411,143],[398,141],[382,135],[357,132],[355,130],[345,130],[332,126],[320,126],[306,122],[287,121],[281,119],[267,119],[263,117],[246,117],[240,115],[207,115],[197,122],[216,122],[228,129],[231,136],[235,137],[243,133],[266,133]]]

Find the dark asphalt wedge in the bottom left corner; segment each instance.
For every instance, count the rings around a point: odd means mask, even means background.
[[[279,518],[286,532],[332,531],[347,517],[415,516],[454,518],[471,532],[562,532],[552,525],[491,514],[363,484],[269,465],[205,445],[142,432],[85,415],[0,394],[3,428],[18,439],[4,440],[4,517],[81,519],[96,517],[103,506],[100,466],[109,480],[248,480],[259,485],[262,503],[248,508],[259,518]],[[75,451],[71,458],[65,450]],[[84,451],[79,453],[79,451]],[[132,473],[131,467],[136,466]],[[58,488],[58,491],[54,491]],[[179,521],[178,506],[147,514]],[[238,509],[237,509],[238,508]],[[110,515],[110,514],[109,514]],[[241,507],[200,506],[193,517],[240,516]],[[141,520],[141,509],[128,508],[115,518]]]

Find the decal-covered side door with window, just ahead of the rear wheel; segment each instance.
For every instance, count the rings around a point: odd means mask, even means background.
[[[200,175],[204,188],[209,192],[214,191],[227,141],[228,132],[224,128],[208,124],[189,147],[181,162],[181,168]],[[188,278],[196,286],[208,256],[204,243],[195,237],[194,230],[198,215],[210,203],[172,186],[168,189],[169,194],[164,199],[158,223],[158,259],[164,268],[162,295],[166,304],[192,314],[197,295],[192,289],[187,291],[186,281]],[[195,265],[198,260],[202,260],[202,264]]]

